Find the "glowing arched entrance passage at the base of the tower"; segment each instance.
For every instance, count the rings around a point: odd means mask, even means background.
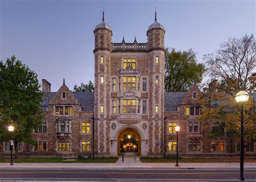
[[[138,152],[140,156],[140,135],[134,129],[125,129],[118,136],[117,155],[121,152]]]

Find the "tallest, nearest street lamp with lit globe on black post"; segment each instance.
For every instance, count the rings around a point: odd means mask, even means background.
[[[244,103],[248,101],[249,94],[245,91],[240,91],[235,95],[235,101],[240,103],[241,111],[241,130],[240,130],[240,178],[238,181],[245,181],[244,178]]]

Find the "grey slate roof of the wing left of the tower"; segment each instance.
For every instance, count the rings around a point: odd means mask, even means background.
[[[56,92],[44,92],[42,106],[48,106],[49,101]],[[94,92],[72,92],[76,99],[80,100],[82,106],[94,106]]]

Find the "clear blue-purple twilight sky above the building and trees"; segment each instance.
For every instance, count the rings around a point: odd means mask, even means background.
[[[66,85],[94,82],[95,26],[102,20],[113,31],[112,42],[147,41],[157,19],[166,30],[165,46],[193,48],[198,62],[230,37],[255,34],[255,1],[82,1],[0,0],[0,60],[12,55],[28,65],[56,92]]]

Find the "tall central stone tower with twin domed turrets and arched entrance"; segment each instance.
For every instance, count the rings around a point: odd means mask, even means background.
[[[94,33],[96,156],[163,153],[165,30],[157,14],[147,43],[112,43],[104,12]]]

